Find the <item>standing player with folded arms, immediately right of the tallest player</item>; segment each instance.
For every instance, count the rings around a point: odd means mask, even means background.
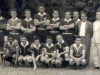
[[[60,23],[61,18],[59,18],[59,11],[57,9],[53,10],[53,18],[50,20],[50,25],[47,27],[47,29],[50,30],[50,35],[53,37],[53,43],[57,43],[56,36],[60,33]]]

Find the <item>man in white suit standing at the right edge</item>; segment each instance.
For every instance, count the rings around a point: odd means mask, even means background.
[[[96,12],[96,21],[93,23],[92,49],[95,69],[100,68],[100,10]]]

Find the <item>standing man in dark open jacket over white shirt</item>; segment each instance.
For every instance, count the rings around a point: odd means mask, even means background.
[[[90,44],[91,37],[93,35],[93,26],[92,23],[87,20],[87,14],[84,11],[81,12],[81,21],[78,22],[78,34],[81,37],[82,44],[86,46],[86,65],[89,66]]]

